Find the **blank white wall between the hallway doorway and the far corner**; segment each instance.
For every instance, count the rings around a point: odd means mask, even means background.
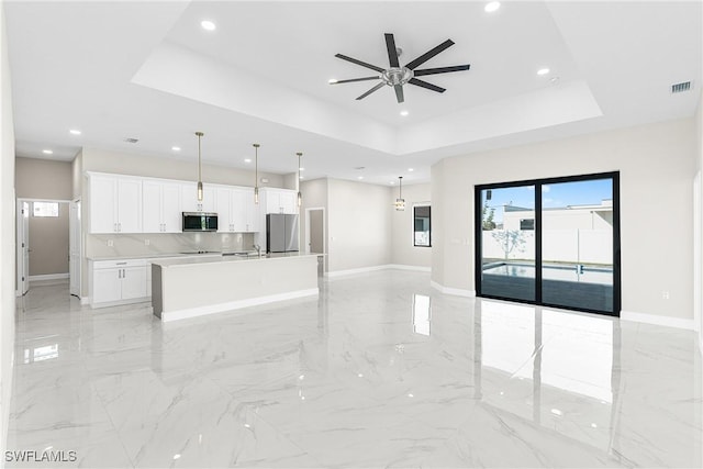
[[[382,186],[327,179],[330,272],[390,264],[390,192]]]

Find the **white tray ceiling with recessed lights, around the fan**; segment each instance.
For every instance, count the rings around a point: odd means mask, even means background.
[[[87,146],[194,161],[203,131],[205,163],[248,168],[258,142],[263,170],[292,172],[303,152],[309,179],[412,183],[447,156],[693,115],[700,1],[484,4],[5,1],[16,153],[70,160]],[[406,85],[403,104],[386,87],[357,101],[375,81],[327,83],[375,75],[336,53],[387,67],[383,33],[401,64],[451,38],[420,68],[471,69],[423,77],[442,94]],[[543,67],[550,74],[537,76]],[[688,80],[692,91],[670,93]]]

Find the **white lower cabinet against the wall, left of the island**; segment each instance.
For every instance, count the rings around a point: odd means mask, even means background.
[[[91,261],[89,267],[92,308],[146,300],[145,259],[97,260]]]

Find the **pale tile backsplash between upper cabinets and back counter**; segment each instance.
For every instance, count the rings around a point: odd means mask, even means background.
[[[175,254],[193,250],[254,250],[254,233],[148,233],[86,235],[86,257]]]

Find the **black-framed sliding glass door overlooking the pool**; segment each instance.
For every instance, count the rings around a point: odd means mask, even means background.
[[[476,188],[477,292],[620,315],[618,174]]]

